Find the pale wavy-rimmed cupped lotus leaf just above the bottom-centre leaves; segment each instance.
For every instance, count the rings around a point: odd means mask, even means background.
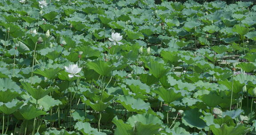
[[[150,108],[149,103],[145,103],[142,99],[134,99],[130,95],[121,95],[116,101],[121,103],[128,111],[144,113]]]

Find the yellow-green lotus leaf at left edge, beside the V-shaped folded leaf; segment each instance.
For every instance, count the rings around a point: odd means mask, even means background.
[[[12,99],[23,94],[22,91],[14,90],[14,89],[3,89],[0,90],[0,102],[11,102]]]

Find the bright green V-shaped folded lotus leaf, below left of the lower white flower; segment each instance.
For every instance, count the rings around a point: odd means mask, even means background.
[[[48,95],[50,92],[57,90],[59,87],[48,87],[47,89],[43,89],[38,86],[37,88],[33,88],[30,83],[22,82],[23,88],[28,91],[30,95],[36,100],[43,98],[45,95]]]

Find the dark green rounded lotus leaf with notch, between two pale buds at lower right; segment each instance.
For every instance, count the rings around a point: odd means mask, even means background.
[[[199,112],[197,108],[184,111],[184,116],[182,117],[182,123],[184,123],[189,127],[196,127],[198,129],[207,127],[204,120],[200,119],[201,115],[203,114]]]

